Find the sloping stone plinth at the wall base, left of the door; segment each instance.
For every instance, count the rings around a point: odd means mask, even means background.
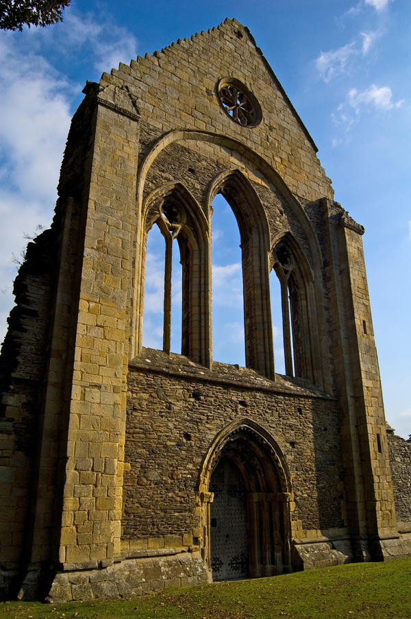
[[[199,552],[125,559],[100,570],[59,572],[47,602],[132,598],[167,587],[209,581],[210,575]]]

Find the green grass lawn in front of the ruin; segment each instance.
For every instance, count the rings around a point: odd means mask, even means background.
[[[167,590],[134,600],[0,604],[0,619],[410,619],[411,559]]]

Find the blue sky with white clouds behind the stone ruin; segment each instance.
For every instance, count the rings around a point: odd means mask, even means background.
[[[398,434],[407,437],[411,433],[410,0],[72,0],[63,23],[22,33],[0,32],[0,339],[13,303],[12,256],[20,256],[24,234],[51,222],[66,134],[86,80],[97,81],[102,71],[120,61],[128,64],[137,54],[206,30],[227,16],[251,30],[319,147],[336,200],[365,226],[386,417]],[[225,205],[217,210],[223,212]],[[227,226],[225,215],[213,223],[214,245],[220,242],[223,247],[225,239],[236,245]],[[214,326],[214,354],[219,345],[221,361],[241,363],[241,330],[235,328],[241,317],[234,313],[240,298],[239,258],[224,258],[218,248],[216,252],[214,296],[217,304],[229,309],[225,318],[221,310],[221,326]],[[229,299],[224,295],[227,281],[237,287]],[[214,315],[218,312],[214,306]],[[227,312],[230,328],[224,323]],[[279,369],[277,331],[275,337]],[[224,352],[229,359],[223,358]]]

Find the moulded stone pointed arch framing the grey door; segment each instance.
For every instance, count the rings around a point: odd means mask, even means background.
[[[275,439],[247,418],[228,424],[216,435],[199,473],[204,560],[212,568],[212,480],[225,462],[236,468],[245,489],[247,575],[269,576],[292,570],[290,473]]]

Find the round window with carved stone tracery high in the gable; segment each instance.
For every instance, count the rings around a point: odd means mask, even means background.
[[[255,127],[262,119],[260,104],[247,86],[234,79],[220,80],[218,86],[220,105],[238,125]]]

